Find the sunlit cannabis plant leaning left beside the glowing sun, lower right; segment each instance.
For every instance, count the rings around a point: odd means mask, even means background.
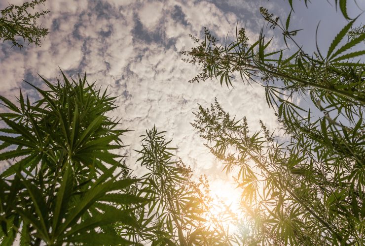
[[[329,139],[350,144],[345,137],[328,132],[323,139],[321,129],[299,124],[290,141],[281,141],[263,123],[250,134],[246,118],[235,120],[217,101],[210,109],[199,105],[195,115],[193,126],[211,153],[228,173],[238,169],[235,181],[252,230],[244,243],[364,243],[363,168],[349,151],[327,145]],[[364,159],[364,134],[355,129],[349,136],[353,154]]]

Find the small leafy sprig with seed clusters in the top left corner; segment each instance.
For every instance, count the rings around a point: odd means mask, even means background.
[[[20,6],[10,4],[1,10],[0,40],[3,42],[9,40],[13,43],[13,46],[23,47],[23,44],[16,39],[21,37],[24,42],[40,46],[40,39],[44,38],[49,32],[48,29],[37,24],[37,20],[41,16],[44,17],[49,11],[42,10],[41,12],[32,13],[31,9],[35,9],[37,5],[44,4],[44,2],[45,0],[32,0],[24,2]]]

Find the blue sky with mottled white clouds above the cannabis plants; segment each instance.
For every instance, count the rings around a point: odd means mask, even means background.
[[[7,2],[23,1],[0,1],[0,9]],[[307,52],[314,51],[315,29],[321,20],[318,44],[326,49],[346,24],[342,14],[326,0],[313,1],[308,8],[304,1],[293,2],[293,29],[304,29],[296,40]],[[329,2],[334,4],[334,0]],[[365,9],[365,2],[358,3]],[[202,38],[204,27],[219,40],[227,33],[231,37],[236,25],[246,27],[255,41],[264,27],[260,6],[284,21],[290,12],[287,0],[48,0],[43,9],[50,13],[41,22],[50,33],[41,47],[19,49],[11,48],[10,43],[0,44],[0,94],[15,101],[22,88],[35,98],[36,92],[23,80],[42,86],[37,74],[55,82],[59,68],[75,79],[86,71],[89,82],[96,81],[98,86],[108,87],[111,96],[118,96],[119,107],[112,116],[121,119],[122,128],[133,130],[126,133],[124,144],[129,146],[122,150],[129,156],[126,163],[131,169],[141,172],[133,150],[140,149],[139,136],[156,125],[167,131],[166,138],[173,139],[171,147],[179,148],[174,154],[191,166],[195,177],[206,174],[213,193],[232,202],[238,196],[227,192],[234,187],[232,179],[221,173],[222,163],[209,154],[194,132],[191,112],[197,110],[197,103],[209,107],[217,97],[231,115],[246,116],[252,131],[259,129],[259,120],[269,130],[278,127],[278,122],[260,86],[244,86],[238,79],[233,81],[234,88],[222,87],[217,81],[188,83],[199,67],[181,61],[179,52],[194,45],[188,34]],[[351,17],[361,13],[352,1],[348,11]],[[364,16],[357,23],[365,23]],[[267,36],[274,35],[273,50],[284,48],[279,32],[264,31]]]

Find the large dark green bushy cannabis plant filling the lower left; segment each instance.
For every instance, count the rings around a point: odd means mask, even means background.
[[[19,107],[1,97],[8,128],[1,129],[0,159],[9,164],[0,175],[1,244],[12,245],[17,233],[21,245],[131,244],[104,228],[137,227],[134,210],[146,202],[120,191],[138,180],[118,179],[126,167],[110,152],[123,147],[126,132],[106,116],[115,98],[86,77],[63,79],[43,79],[47,89],[35,87],[41,99],[34,104],[22,92]]]

